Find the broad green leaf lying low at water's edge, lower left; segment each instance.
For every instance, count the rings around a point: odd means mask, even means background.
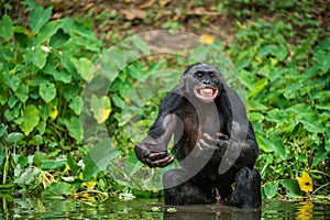
[[[63,196],[69,196],[72,194],[75,194],[76,190],[77,189],[74,185],[59,182],[59,183],[54,183],[48,187],[46,187],[42,193],[42,197],[63,198]]]

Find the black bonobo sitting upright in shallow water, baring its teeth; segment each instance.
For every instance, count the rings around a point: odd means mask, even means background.
[[[167,144],[174,134],[172,154]],[[135,145],[150,167],[178,160],[180,168],[163,175],[167,205],[261,206],[258,155],[251,122],[239,96],[209,64],[186,67],[180,84],[163,99],[147,136]]]

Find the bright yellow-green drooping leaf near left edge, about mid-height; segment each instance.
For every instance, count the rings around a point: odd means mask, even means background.
[[[21,130],[28,136],[30,132],[37,125],[40,113],[35,106],[29,105],[23,112],[23,122],[20,124]]]

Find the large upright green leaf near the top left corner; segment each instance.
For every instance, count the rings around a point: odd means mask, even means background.
[[[29,25],[32,32],[37,32],[50,20],[52,15],[52,9],[53,8],[50,7],[45,10],[41,6],[34,8],[29,16]]]

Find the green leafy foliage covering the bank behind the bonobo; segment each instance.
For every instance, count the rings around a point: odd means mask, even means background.
[[[238,21],[232,44],[221,44],[208,34],[201,41],[215,43],[230,56],[245,87],[249,117],[261,147],[257,167],[263,195],[301,197],[307,189],[299,187],[297,177],[302,173],[304,178],[305,170],[317,188],[314,193],[323,189],[321,194],[327,194],[330,36],[310,10],[309,1],[235,2],[218,6],[242,21]],[[120,75],[111,79],[108,94],[87,96],[82,103],[86,82],[95,82],[94,66],[101,55],[107,55],[105,44],[89,29],[90,20],[51,20],[52,7],[45,9],[34,1],[23,3],[29,26],[7,13],[0,20],[0,189],[43,191],[43,197],[56,198],[103,199],[108,196],[105,193],[121,193],[123,199],[133,198],[132,193],[150,196],[151,193],[129,189],[129,183],[153,189],[155,178],[164,169],[147,176],[132,146],[156,117],[165,89],[155,92],[141,81],[172,86],[177,78],[160,80],[147,76],[187,65],[186,61],[179,56],[151,56],[121,68],[127,57],[108,54],[117,66],[105,66],[109,73],[120,69]],[[245,6],[248,10],[239,10]],[[300,14],[290,12],[296,6],[300,6]],[[9,2],[6,11],[10,8]],[[276,12],[276,16],[253,19],[263,11]],[[98,14],[98,19],[103,15]],[[108,16],[117,14],[112,11]],[[182,29],[177,21],[163,26]],[[120,38],[118,33],[111,36],[111,42]],[[139,37],[133,43],[143,54],[150,54]],[[206,47],[198,53],[201,51]],[[147,99],[140,100],[141,94]],[[133,108],[124,111],[128,103],[134,103]],[[79,116],[86,113],[86,105],[95,123],[106,122],[110,134],[94,140],[92,147],[82,143],[86,131]],[[138,173],[146,175],[143,183],[135,178]]]

